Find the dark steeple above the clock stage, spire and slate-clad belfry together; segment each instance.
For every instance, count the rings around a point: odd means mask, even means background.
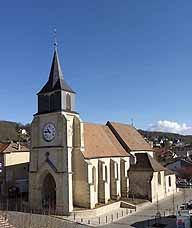
[[[39,114],[56,111],[74,112],[75,92],[64,81],[56,46],[49,79],[37,95]]]

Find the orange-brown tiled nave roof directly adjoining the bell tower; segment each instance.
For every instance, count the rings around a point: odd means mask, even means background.
[[[129,154],[123,149],[108,126],[84,123],[85,158],[127,157]]]

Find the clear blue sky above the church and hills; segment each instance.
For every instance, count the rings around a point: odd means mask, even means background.
[[[0,119],[32,121],[54,29],[85,122],[192,134],[191,0],[18,0],[0,6]]]

